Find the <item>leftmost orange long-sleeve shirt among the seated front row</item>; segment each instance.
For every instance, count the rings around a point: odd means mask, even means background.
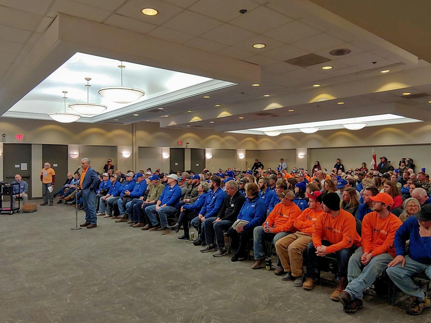
[[[274,233],[279,232],[287,232],[291,233],[297,232],[297,229],[294,227],[294,222],[298,215],[301,214],[301,209],[292,202],[291,205],[284,205],[283,203],[278,203],[275,205],[275,208],[268,214],[263,226],[265,226],[266,221],[268,221],[268,225],[273,228]],[[349,213],[350,214],[350,213]]]

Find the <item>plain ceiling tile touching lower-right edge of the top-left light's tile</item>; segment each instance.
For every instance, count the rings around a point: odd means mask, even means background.
[[[168,22],[165,22],[163,27],[199,36],[219,25],[222,25],[222,22],[196,12],[185,10]]]

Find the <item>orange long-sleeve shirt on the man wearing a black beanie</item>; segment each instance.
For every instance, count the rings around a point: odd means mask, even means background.
[[[315,248],[328,240],[332,245],[326,247],[327,253],[337,252],[352,245],[361,246],[361,237],[356,232],[356,220],[353,215],[343,209],[336,217],[323,212],[314,224],[313,244]]]

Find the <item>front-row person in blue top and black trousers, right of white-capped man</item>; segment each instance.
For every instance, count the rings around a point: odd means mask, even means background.
[[[190,239],[189,222],[198,216],[201,208],[205,204],[206,199],[208,198],[208,195],[209,195],[208,193],[209,183],[206,181],[202,181],[197,185],[197,190],[198,190],[198,196],[196,201],[193,204],[185,204],[181,206],[181,210],[180,210],[181,213],[180,213],[180,216],[178,217],[177,223],[173,226],[168,226],[169,230],[175,230],[175,232],[178,232],[180,230],[181,224],[183,225],[184,234],[178,237],[178,239],[180,240]]]

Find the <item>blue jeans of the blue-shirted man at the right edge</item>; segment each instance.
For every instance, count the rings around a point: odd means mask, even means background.
[[[386,270],[389,278],[401,289],[406,295],[417,297],[421,301],[425,298],[425,293],[410,278],[415,273],[425,273],[431,279],[431,265],[421,264],[414,261],[410,256],[406,256],[406,266],[401,267],[397,264],[394,267],[389,267]]]

